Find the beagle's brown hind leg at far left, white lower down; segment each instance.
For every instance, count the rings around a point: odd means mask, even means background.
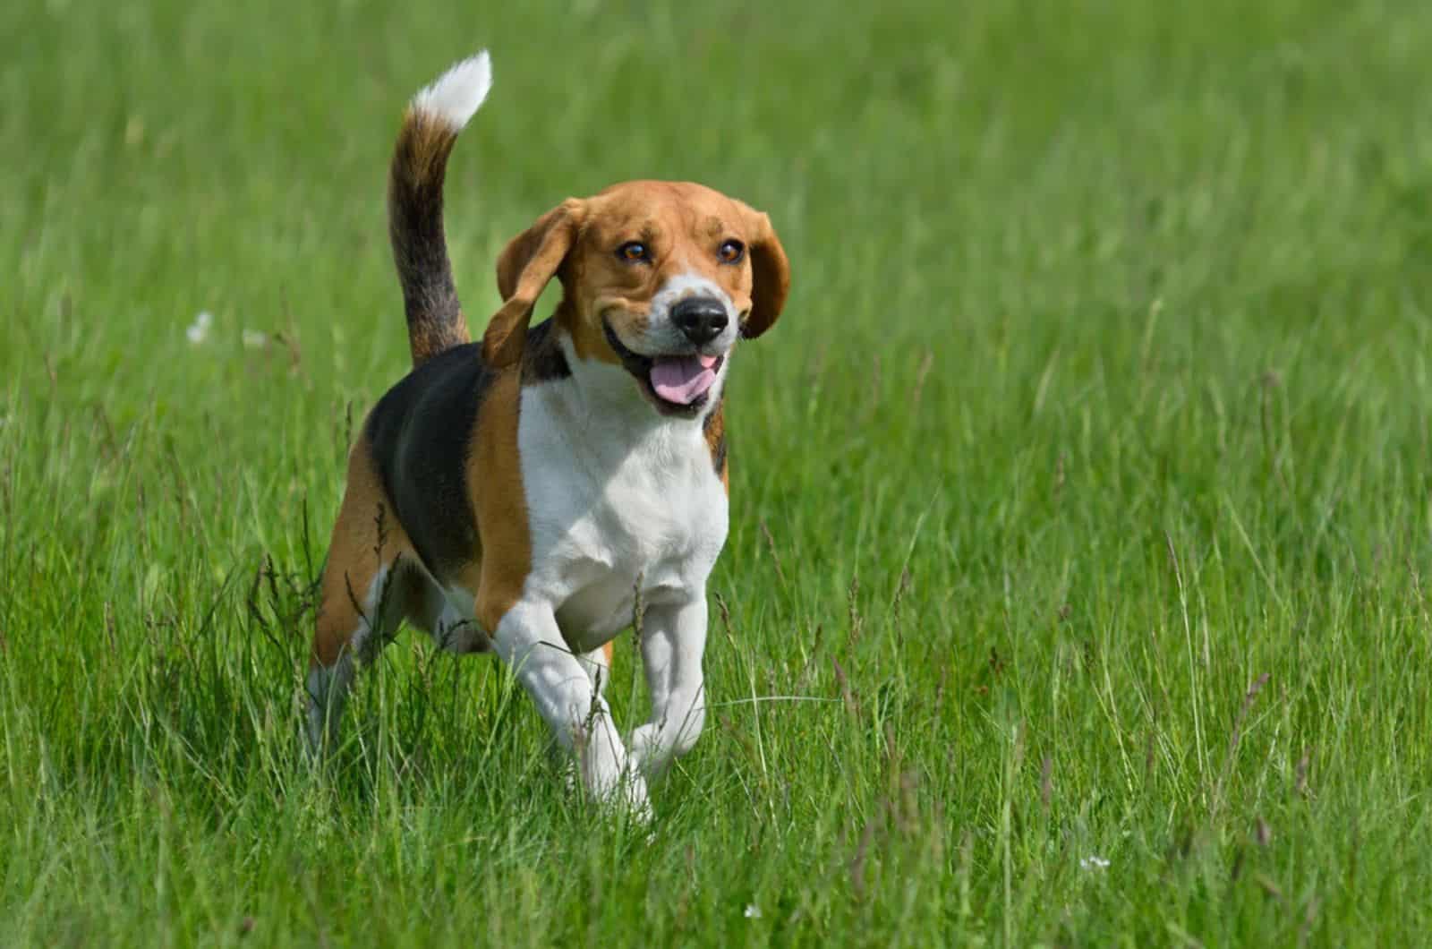
[[[412,545],[388,503],[367,439],[348,456],[308,661],[308,747],[332,748],[357,667],[397,632],[412,595]]]

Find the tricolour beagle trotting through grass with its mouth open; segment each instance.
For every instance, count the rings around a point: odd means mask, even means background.
[[[736,340],[790,272],[766,215],[710,188],[633,181],[573,198],[497,259],[470,343],[442,178],[491,86],[487,53],[411,102],[388,178],[412,371],[348,457],[308,672],[308,740],[335,740],[357,667],[407,619],[493,651],[576,755],[586,790],[649,813],[646,783],[700,735],[706,578],[726,540],[722,390]],[[561,300],[530,327],[556,277]],[[624,744],[603,687],[640,622],[652,717]]]

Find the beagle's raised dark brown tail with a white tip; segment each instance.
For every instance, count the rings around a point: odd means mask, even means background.
[[[414,366],[470,338],[442,237],[442,176],[458,132],[491,86],[485,50],[457,63],[412,97],[392,151],[388,237]]]

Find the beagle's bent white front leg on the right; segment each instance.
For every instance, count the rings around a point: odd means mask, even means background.
[[[652,721],[632,734],[632,761],[657,778],[672,758],[696,744],[706,724],[702,654],[706,651],[706,592],[677,605],[647,608],[642,664],[652,694]]]

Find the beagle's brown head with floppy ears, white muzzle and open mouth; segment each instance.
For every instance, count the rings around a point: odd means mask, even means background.
[[[621,366],[664,414],[695,416],[737,337],[780,315],[790,265],[766,215],[683,182],[636,181],[561,202],[497,259],[493,366],[521,358],[533,304],[557,277],[581,360]]]

